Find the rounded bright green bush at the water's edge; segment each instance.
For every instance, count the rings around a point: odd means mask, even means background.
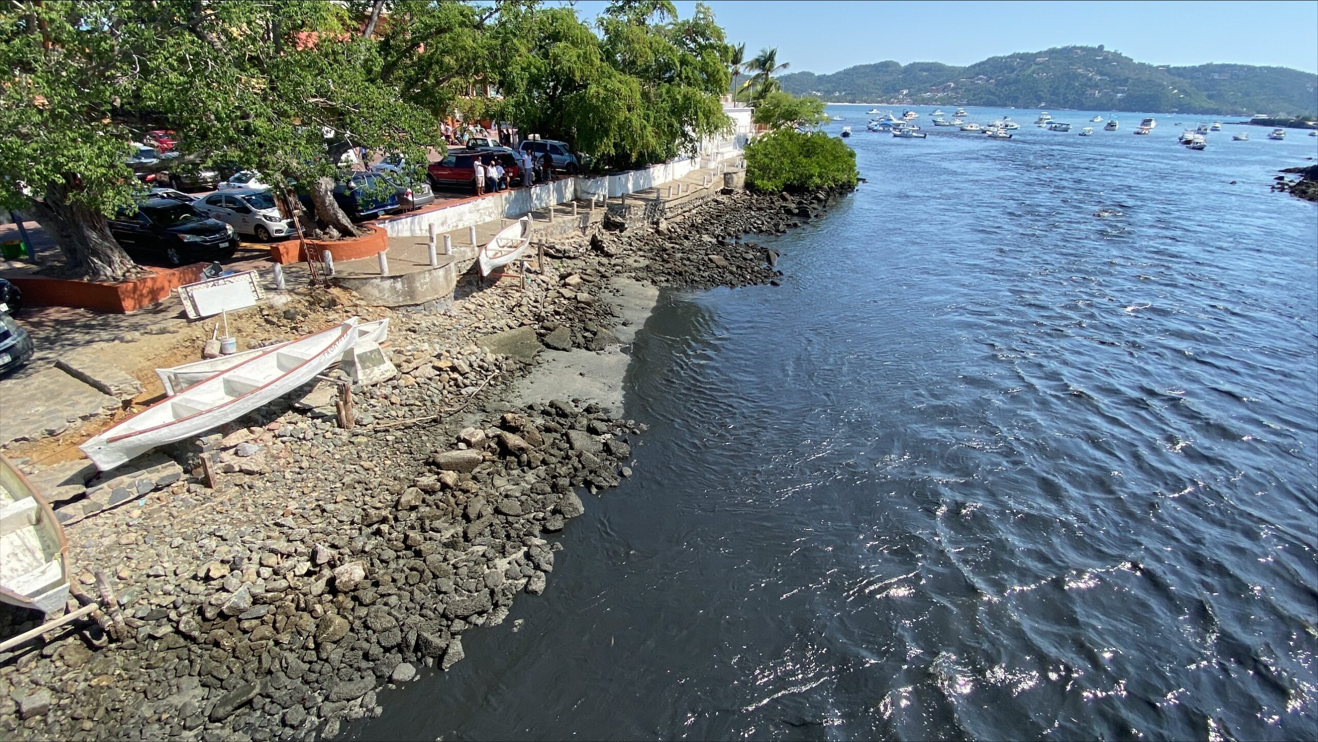
[[[824,132],[779,129],[746,146],[746,186],[755,191],[855,187],[855,152]]]

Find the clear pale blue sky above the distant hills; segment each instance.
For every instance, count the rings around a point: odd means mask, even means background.
[[[594,17],[604,0],[581,0]],[[747,57],[778,46],[789,71],[836,72],[896,59],[970,65],[1012,51],[1072,43],[1153,65],[1239,62],[1318,71],[1318,1],[797,1],[712,0],[729,40]],[[683,17],[693,0],[676,3]]]

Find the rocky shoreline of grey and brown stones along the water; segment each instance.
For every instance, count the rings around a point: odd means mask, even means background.
[[[619,327],[619,275],[775,283],[778,254],[741,236],[786,232],[837,195],[728,194],[658,228],[558,241],[526,290],[377,310],[402,374],[355,389],[355,430],[324,385],[166,451],[187,476],[69,528],[75,579],[117,580],[132,637],[96,648],[95,627],[61,630],[0,655],[0,734],[311,739],[380,714],[382,684],[448,670],[465,631],[542,593],[561,548],[544,536],[631,474],[643,424],[589,398],[518,405],[518,385],[555,353],[621,352],[638,327]],[[323,290],[261,310],[272,339],[352,314],[372,312]]]

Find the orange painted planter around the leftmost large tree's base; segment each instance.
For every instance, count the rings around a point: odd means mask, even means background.
[[[22,291],[22,300],[37,307],[78,307],[109,314],[128,314],[149,307],[185,283],[202,278],[208,264],[183,268],[146,268],[152,275],[120,283],[70,281],[43,275],[7,277]]]

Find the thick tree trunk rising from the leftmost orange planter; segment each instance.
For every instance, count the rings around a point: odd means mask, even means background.
[[[46,187],[45,200],[29,200],[37,221],[63,252],[65,271],[69,275],[90,281],[123,281],[142,273],[115,241],[105,217],[84,206],[69,203],[63,188],[50,185]]]

